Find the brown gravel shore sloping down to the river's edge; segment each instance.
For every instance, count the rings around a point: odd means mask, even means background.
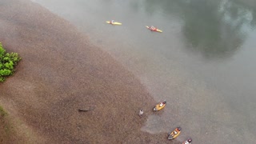
[[[15,142],[168,142],[166,134],[141,131],[154,99],[110,54],[38,4],[2,0],[0,9],[0,41],[22,57],[14,76],[0,84],[0,105],[23,135]]]

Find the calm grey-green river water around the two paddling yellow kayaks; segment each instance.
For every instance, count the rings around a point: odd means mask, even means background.
[[[33,0],[89,36],[139,78],[160,115],[150,134],[182,127],[194,143],[254,143],[254,0]],[[111,19],[122,26],[111,26]],[[163,33],[147,30],[157,26]]]

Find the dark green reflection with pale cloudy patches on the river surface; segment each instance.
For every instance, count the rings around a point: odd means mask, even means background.
[[[256,22],[256,8],[249,9],[246,2],[243,5],[238,2],[149,0],[145,4],[150,14],[161,7],[165,14],[182,18],[187,48],[201,52],[206,58],[229,58],[242,46],[247,32],[254,28]]]

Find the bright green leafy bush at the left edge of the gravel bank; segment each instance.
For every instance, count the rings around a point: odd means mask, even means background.
[[[21,59],[17,53],[6,53],[0,42],[0,82],[4,82],[7,76],[14,74],[14,66]]]

